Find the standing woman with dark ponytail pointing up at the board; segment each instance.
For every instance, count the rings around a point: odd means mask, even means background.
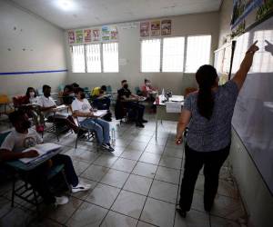
[[[208,64],[197,70],[199,89],[186,98],[177,123],[176,143],[188,127],[185,145],[185,167],[180,191],[179,212],[183,217],[190,210],[199,171],[204,165],[204,208],[210,212],[217,194],[219,171],[229,153],[231,119],[239,90],[245,82],[258,51],[252,44],[232,80],[218,86],[216,69]]]

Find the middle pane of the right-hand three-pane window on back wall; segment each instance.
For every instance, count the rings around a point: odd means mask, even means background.
[[[163,39],[162,72],[183,72],[184,37]]]

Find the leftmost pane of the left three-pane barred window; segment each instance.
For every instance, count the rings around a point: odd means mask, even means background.
[[[85,73],[86,61],[85,61],[85,45],[74,45],[70,47],[72,55],[72,72],[73,73]]]

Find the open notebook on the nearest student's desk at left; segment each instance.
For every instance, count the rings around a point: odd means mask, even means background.
[[[56,144],[56,143],[41,143],[36,144],[34,147],[27,148],[23,151],[23,153],[35,150],[37,153],[39,153],[39,156],[36,156],[34,158],[21,158],[19,159],[23,163],[30,163],[35,161],[36,159],[40,158],[43,155],[46,155],[46,153],[51,153],[53,151],[56,151],[57,149],[61,148],[62,146]]]

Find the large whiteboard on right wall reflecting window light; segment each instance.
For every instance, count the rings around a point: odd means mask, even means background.
[[[232,125],[273,193],[273,17],[238,37],[233,75],[255,40],[259,51],[238,95]]]

